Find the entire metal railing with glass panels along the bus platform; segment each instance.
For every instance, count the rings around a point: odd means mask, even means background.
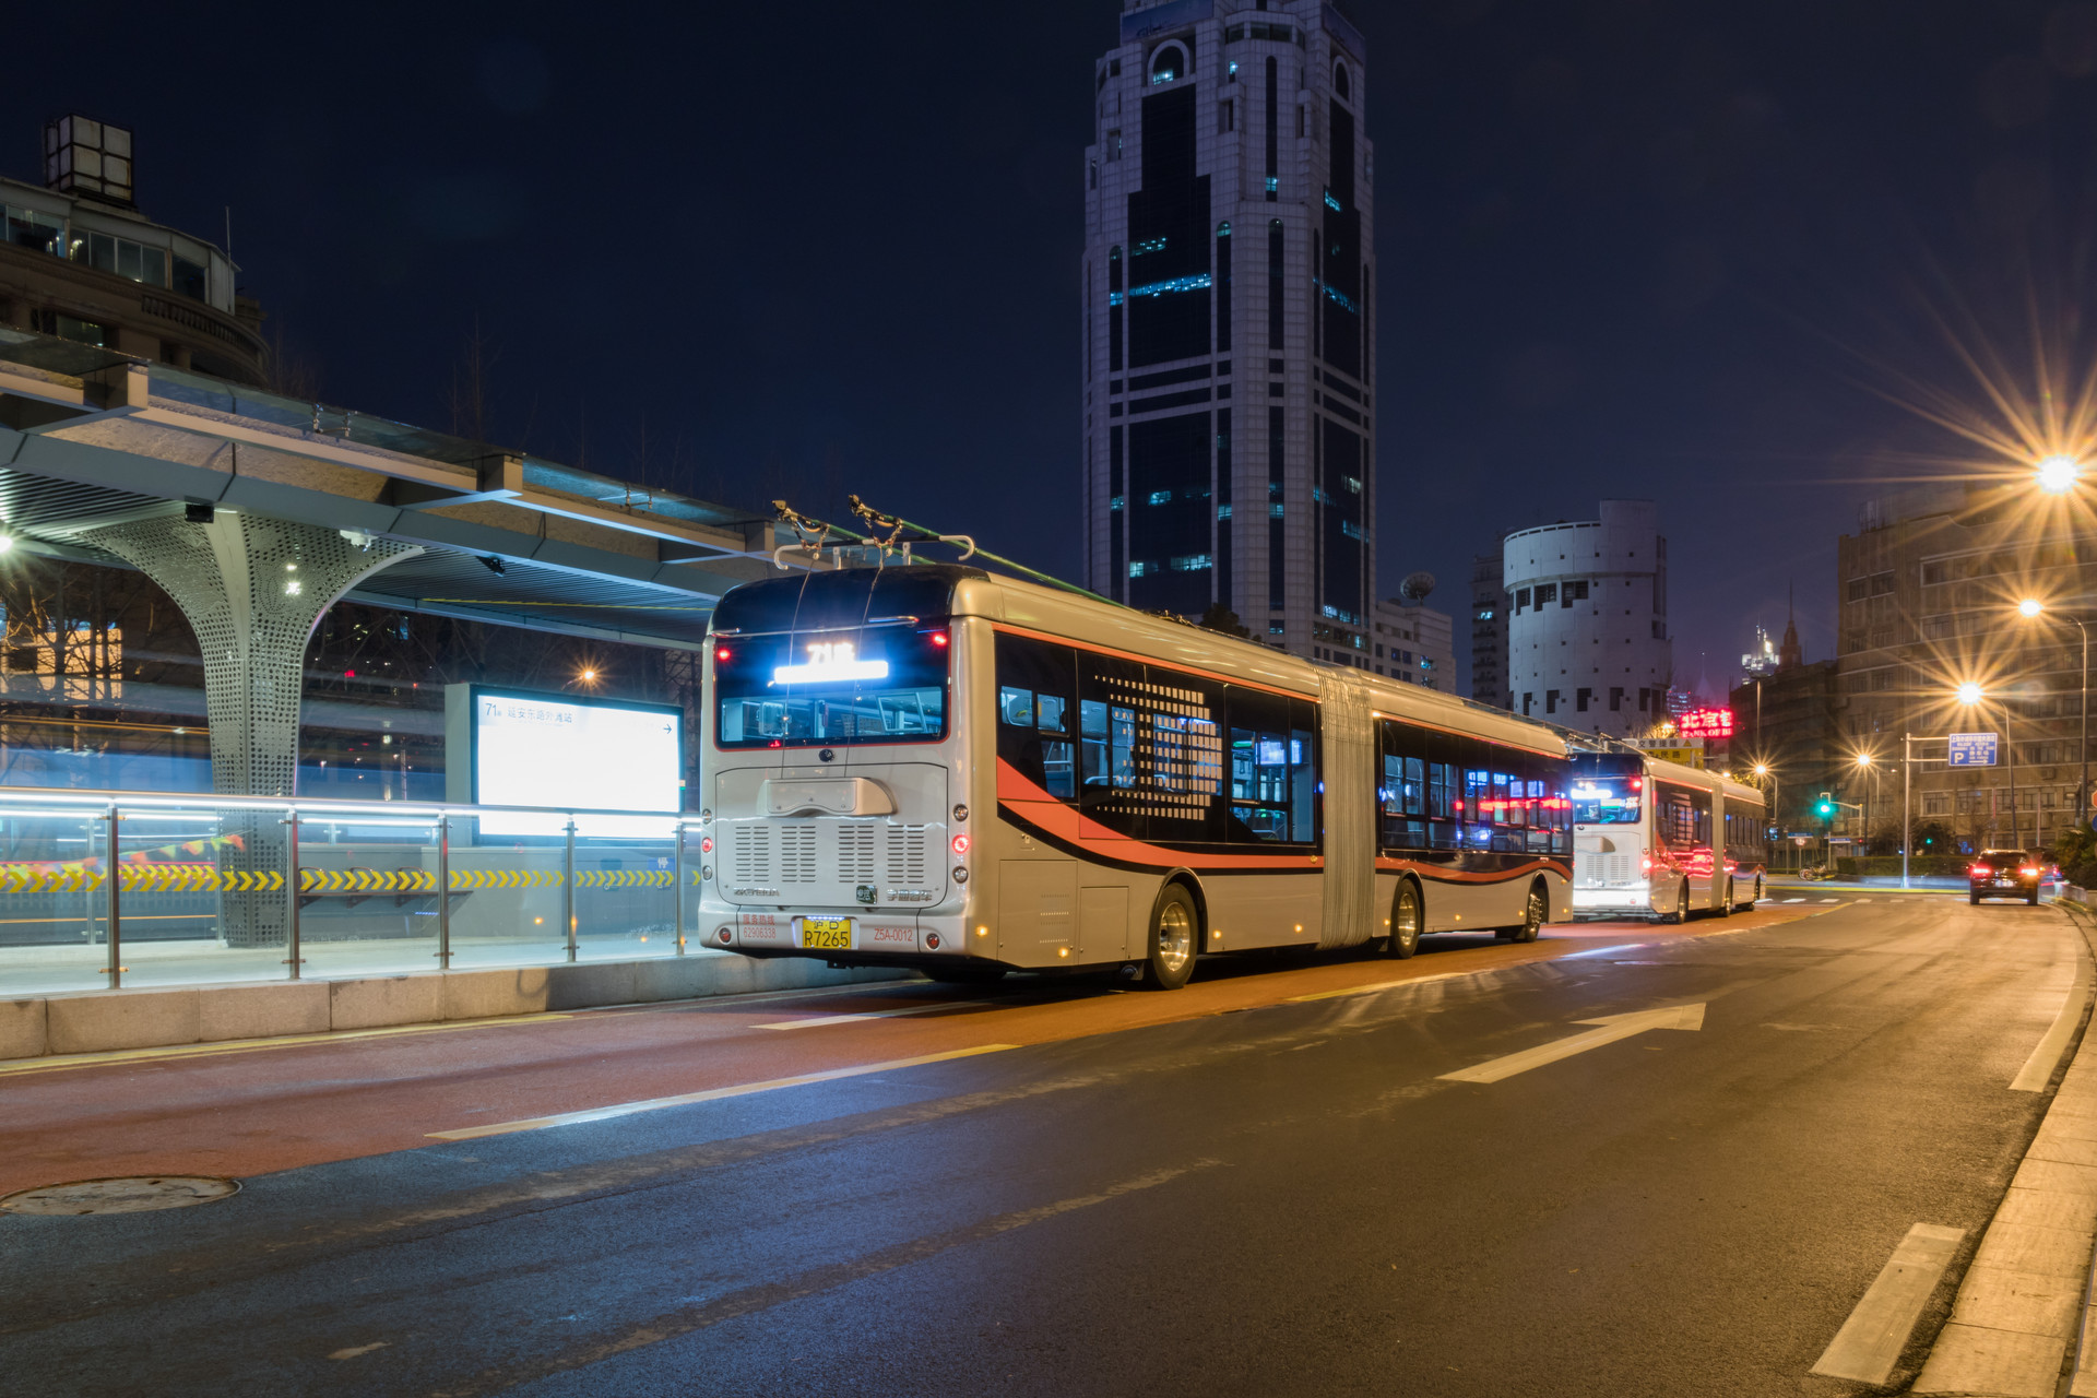
[[[700,824],[0,788],[0,998],[684,956]]]

